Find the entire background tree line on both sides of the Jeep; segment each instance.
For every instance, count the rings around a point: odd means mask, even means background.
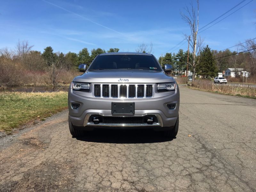
[[[246,51],[255,47],[255,40],[241,44],[236,51],[229,49],[217,51],[212,50],[209,45],[206,45],[195,57],[195,73],[203,78],[210,78],[226,68],[244,68],[244,70],[250,72],[251,77],[255,78],[256,50],[235,54],[239,51]],[[0,87],[2,85],[20,85],[21,82],[31,84],[35,78],[38,79],[42,74],[46,74],[44,81],[47,84],[56,86],[58,82],[67,83],[72,80],[72,77],[77,75],[75,71],[80,63],[85,63],[89,66],[98,54],[119,51],[118,48],[110,48],[108,51],[97,48],[89,52],[87,48],[83,48],[78,53],[68,52],[64,54],[63,52],[54,52],[51,46],[46,47],[43,53],[32,50],[32,48],[33,45],[29,45],[28,41],[19,41],[13,51],[8,48],[0,49]],[[142,43],[138,46],[136,52],[150,53],[152,52],[152,44]],[[174,69],[173,75],[182,75],[182,73],[185,75],[187,53],[187,51],[182,49],[177,53],[167,52],[159,57],[158,61],[162,66],[164,64],[171,64]],[[229,56],[231,54],[235,55]],[[193,63],[193,53],[189,52],[188,55],[188,63]],[[15,71],[19,71],[19,73],[14,73]],[[192,65],[189,65],[189,71],[193,71]],[[237,72],[236,70],[236,76],[238,76]],[[33,74],[34,77],[32,78]],[[63,80],[63,78],[68,76],[67,74],[69,74],[69,78]],[[28,76],[31,76],[31,80],[28,80]],[[42,83],[42,81],[41,78],[40,82]]]

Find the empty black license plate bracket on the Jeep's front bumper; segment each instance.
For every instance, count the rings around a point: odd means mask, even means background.
[[[134,115],[134,103],[112,103],[112,115]]]

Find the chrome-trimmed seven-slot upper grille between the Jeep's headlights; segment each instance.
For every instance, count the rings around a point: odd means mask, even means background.
[[[103,98],[150,98],[153,84],[94,84],[94,97]]]

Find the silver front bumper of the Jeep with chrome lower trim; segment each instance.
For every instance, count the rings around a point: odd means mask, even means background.
[[[161,93],[159,93],[161,94]],[[154,128],[163,130],[164,127],[173,127],[179,116],[179,105],[180,105],[180,93],[179,89],[170,92],[163,97],[157,98],[144,98],[144,99],[104,99],[104,98],[92,98],[85,97],[76,94],[72,89],[68,92],[68,108],[69,108],[69,118],[73,125],[80,127],[81,129],[91,130],[93,128]],[[78,109],[73,109],[71,107],[71,102],[79,103],[80,107]],[[141,123],[99,123],[94,124],[89,122],[89,118],[92,115],[113,117],[111,113],[111,103],[112,102],[134,102],[135,112],[132,117],[143,117],[148,115],[154,115],[157,117],[157,123],[154,124],[141,124]],[[176,107],[174,109],[169,109],[167,104],[175,103]],[[116,115],[115,115],[116,117]],[[124,116],[122,116],[124,117]]]

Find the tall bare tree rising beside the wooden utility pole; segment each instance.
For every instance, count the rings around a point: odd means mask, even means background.
[[[182,19],[188,23],[190,30],[191,30],[191,38],[189,39],[189,35],[185,34],[186,39],[189,41],[189,44],[192,49],[192,63],[188,63],[191,65],[193,69],[193,78],[192,82],[195,81],[196,75],[196,66],[199,63],[199,53],[201,51],[201,47],[203,46],[203,41],[201,37],[197,38],[198,34],[198,26],[199,26],[199,0],[196,1],[197,8],[194,8],[193,3],[191,2],[191,8],[189,9],[188,6],[185,7],[186,14],[180,13]]]

